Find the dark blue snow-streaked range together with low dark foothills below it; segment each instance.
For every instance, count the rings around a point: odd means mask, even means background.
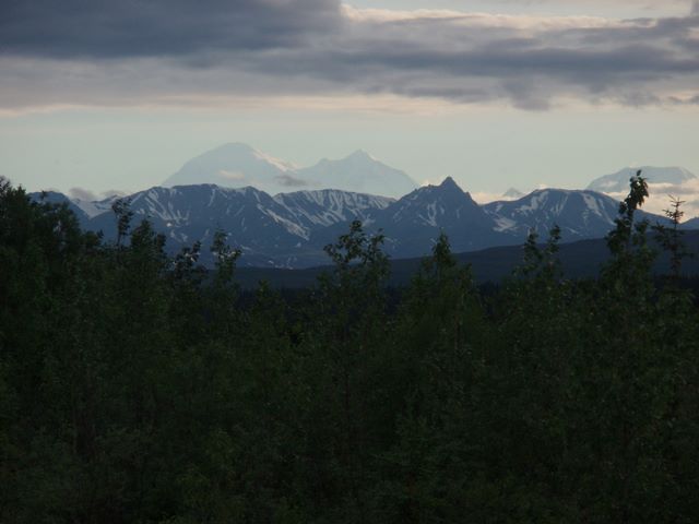
[[[39,200],[42,193],[31,198]],[[257,287],[260,279],[273,287],[312,286],[324,270],[321,266],[329,263],[323,245],[346,233],[347,222],[355,218],[370,230],[382,228],[387,234],[392,285],[410,282],[420,263],[411,257],[428,254],[440,230],[449,235],[457,259],[472,265],[477,283],[499,282],[521,263],[529,229],[536,228],[545,240],[555,223],[562,229],[558,255],[566,276],[593,277],[608,258],[601,237],[613,227],[618,211],[618,202],[604,194],[558,189],[478,206],[450,178],[398,201],[331,190],[270,196],[254,188],[212,184],[152,188],[130,198],[134,225],[149,217],[156,230],[167,235],[170,250],[201,240],[204,263],[212,263],[208,248],[213,231],[224,229],[228,242],[242,249],[237,279],[246,288]],[[68,196],[52,191],[45,193],[45,201],[67,203],[84,227],[103,230],[108,240],[115,238],[110,212],[90,218]],[[651,222],[663,219],[643,212],[638,215]],[[687,221],[683,228],[699,229],[699,218]],[[685,242],[695,257],[683,262],[683,274],[699,274],[699,230],[687,231]],[[487,248],[473,249],[479,243]],[[667,254],[662,254],[655,271],[667,273],[668,267]]]

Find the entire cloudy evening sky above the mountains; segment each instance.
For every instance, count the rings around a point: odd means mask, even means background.
[[[28,190],[132,192],[245,142],[488,200],[699,175],[698,117],[697,1],[0,2],[0,175]]]

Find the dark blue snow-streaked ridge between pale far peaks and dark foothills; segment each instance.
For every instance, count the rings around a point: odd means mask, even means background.
[[[115,238],[110,211],[91,214],[95,203],[74,202],[61,193],[45,198],[67,202],[84,228],[103,231],[107,240]],[[605,194],[560,189],[479,205],[451,178],[398,200],[329,189],[270,195],[252,187],[208,183],[154,187],[129,200],[134,222],[147,217],[166,235],[171,251],[201,241],[206,253],[215,230],[222,229],[228,242],[241,249],[241,265],[266,267],[327,263],[323,247],[346,233],[354,219],[362,221],[369,233],[382,231],[384,250],[401,259],[428,254],[441,231],[454,252],[521,245],[531,229],[545,236],[555,224],[564,242],[601,238],[614,226],[618,211],[618,202]],[[664,221],[644,212],[638,215]]]

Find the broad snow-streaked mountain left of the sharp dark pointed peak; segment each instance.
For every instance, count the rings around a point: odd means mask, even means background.
[[[155,187],[129,196],[133,224],[149,218],[156,231],[168,238],[171,250],[202,242],[203,253],[216,229],[224,230],[230,246],[240,248],[242,265],[303,266],[325,262],[322,246],[310,241],[318,228],[357,218],[386,209],[384,196],[337,190],[298,191],[271,196],[247,187],[214,184]],[[90,219],[86,228],[116,237],[111,213]]]

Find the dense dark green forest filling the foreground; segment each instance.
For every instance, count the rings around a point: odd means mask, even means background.
[[[353,223],[289,299],[242,297],[224,233],[206,270],[0,180],[0,522],[697,522],[698,310],[645,196],[594,279],[554,229],[490,293],[443,236],[390,290]]]

